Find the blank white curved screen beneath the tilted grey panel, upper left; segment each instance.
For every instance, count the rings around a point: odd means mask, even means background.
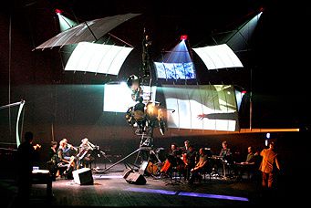
[[[132,47],[81,42],[69,57],[65,70],[118,75],[132,49]]]

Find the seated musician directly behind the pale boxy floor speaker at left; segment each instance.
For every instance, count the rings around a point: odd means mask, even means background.
[[[89,143],[88,138],[84,138],[83,140],[81,140],[81,142],[82,143],[79,146],[79,151],[77,154],[78,168],[88,168],[90,166],[90,163],[94,161],[94,158],[91,155],[93,147]]]

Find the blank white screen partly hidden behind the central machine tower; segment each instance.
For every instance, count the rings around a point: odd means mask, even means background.
[[[156,87],[140,86],[144,94],[150,95],[151,100],[155,100]],[[119,84],[104,85],[104,111],[126,112],[136,102],[131,99],[132,91],[125,82]]]

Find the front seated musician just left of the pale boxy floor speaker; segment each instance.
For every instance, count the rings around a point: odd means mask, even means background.
[[[67,143],[67,139],[63,139],[59,141],[59,147],[57,151],[57,155],[59,158],[58,167],[60,168],[60,173],[65,175],[67,179],[72,179],[72,172],[76,170],[76,154],[77,148]],[[62,170],[62,168],[66,168],[66,170]]]

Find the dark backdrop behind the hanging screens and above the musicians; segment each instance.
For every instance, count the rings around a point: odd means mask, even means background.
[[[209,71],[192,52],[196,81],[233,84],[247,91],[240,110],[241,128],[249,128],[252,92],[253,128],[309,130],[307,57],[302,52],[307,49],[306,6],[277,0],[16,0],[7,4],[0,8],[0,105],[25,99],[24,130],[33,130],[45,140],[51,139],[52,123],[56,140],[69,137],[78,143],[87,135],[94,140],[107,135],[111,140],[136,138],[123,114],[102,112],[100,85],[139,73],[143,28],[147,28],[153,40],[152,58],[159,60],[162,51],[179,43],[181,35],[189,36],[190,47],[213,45],[212,36],[236,29],[260,9],[264,13],[254,36],[248,40],[246,51],[237,53],[244,68]],[[56,8],[79,22],[141,14],[111,31],[134,46],[119,76],[65,72],[66,61],[61,58],[63,52],[59,47],[33,50],[59,33]],[[117,39],[113,41],[120,44]],[[170,137],[180,135],[169,132]]]

